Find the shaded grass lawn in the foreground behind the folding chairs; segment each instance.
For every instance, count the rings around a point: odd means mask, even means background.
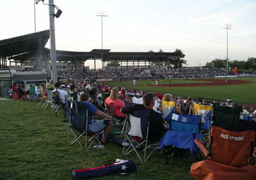
[[[37,103],[0,100],[0,179],[72,179],[72,169],[98,167],[117,158],[135,161],[137,172],[100,179],[193,179],[182,162],[164,165],[165,155],[158,151],[140,163],[135,153],[123,156],[123,148],[110,142],[104,149],[87,151],[77,143],[67,146],[67,122]],[[193,163],[193,156],[187,163]]]

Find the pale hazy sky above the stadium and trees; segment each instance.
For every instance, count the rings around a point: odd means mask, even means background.
[[[44,3],[48,3],[45,0]],[[215,58],[256,58],[256,0],[55,0],[62,14],[55,18],[57,50],[90,52],[174,52],[186,55],[187,65],[203,66]],[[0,40],[34,30],[34,0],[0,0]],[[49,30],[49,6],[35,5],[36,32]],[[56,12],[56,11],[55,11]],[[49,43],[46,44],[49,48]],[[93,62],[87,62],[93,67]],[[101,62],[97,61],[97,68]]]

